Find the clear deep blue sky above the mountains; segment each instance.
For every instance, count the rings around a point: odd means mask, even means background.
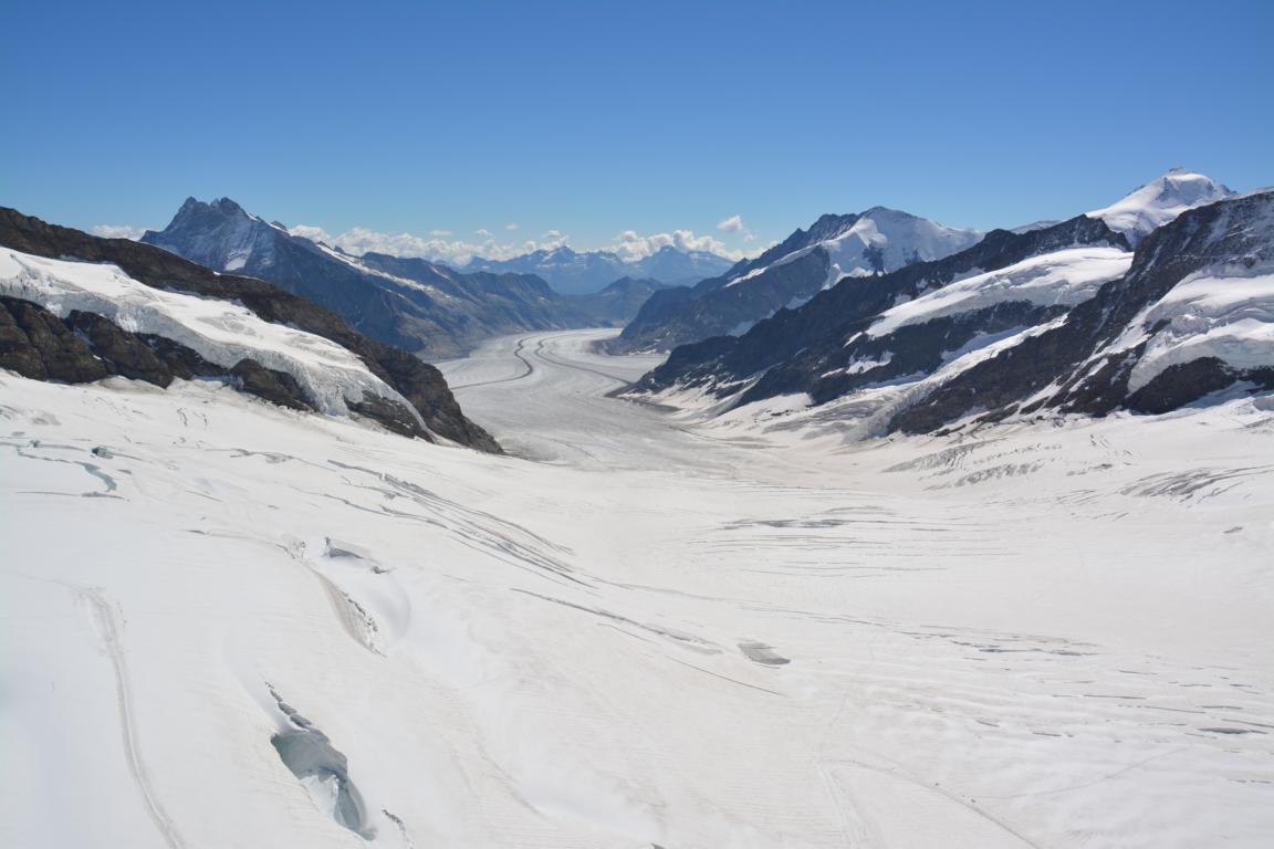
[[[1173,165],[1274,182],[1271,45],[1269,1],[17,4],[0,204],[578,248],[1015,225]]]

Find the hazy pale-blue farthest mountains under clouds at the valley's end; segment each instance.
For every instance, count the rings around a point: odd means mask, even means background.
[[[620,277],[659,280],[666,285],[698,283],[726,271],[734,262],[710,251],[664,246],[641,260],[626,261],[609,251],[576,252],[568,247],[534,251],[512,260],[470,260],[465,271],[534,274],[563,294],[590,294]]]

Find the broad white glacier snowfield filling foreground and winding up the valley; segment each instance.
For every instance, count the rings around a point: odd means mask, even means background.
[[[0,844],[366,846],[285,701],[373,845],[1269,845],[1271,405],[845,448],[601,335],[445,365],[535,461],[0,373]]]

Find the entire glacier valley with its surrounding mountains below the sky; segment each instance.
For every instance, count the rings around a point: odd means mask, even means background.
[[[1274,191],[304,232],[0,209],[0,844],[1269,845]]]

